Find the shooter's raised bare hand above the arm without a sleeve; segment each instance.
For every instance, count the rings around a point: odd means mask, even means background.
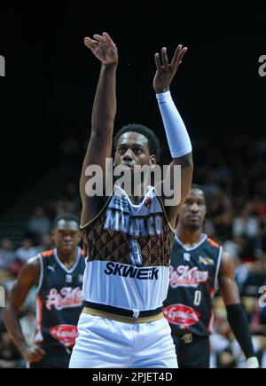
[[[103,35],[93,35],[94,39],[85,37],[84,43],[90,51],[105,65],[118,63],[118,51],[111,37],[104,32]]]

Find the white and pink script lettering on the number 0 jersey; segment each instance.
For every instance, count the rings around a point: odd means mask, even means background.
[[[200,283],[205,283],[208,279],[207,271],[200,271],[199,267],[189,265],[179,265],[176,270],[170,266],[170,287],[199,287]]]

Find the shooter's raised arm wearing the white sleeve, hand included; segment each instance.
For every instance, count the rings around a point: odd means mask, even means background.
[[[174,205],[168,205],[166,189],[170,186],[163,186],[162,198],[165,203],[165,208],[168,214],[168,220],[172,226],[175,226],[176,215],[181,208],[187,194],[190,191],[192,185],[192,144],[188,132],[184,126],[184,122],[177,111],[176,105],[170,94],[170,84],[176,75],[177,68],[179,67],[187,47],[178,45],[175,55],[172,61],[169,63],[166,47],[161,50],[161,59],[159,53],[155,54],[156,74],[153,79],[153,88],[156,92],[156,97],[160,107],[160,114],[166,130],[168,138],[168,146],[172,155],[173,161],[169,165],[168,174],[163,181],[163,184],[171,185],[173,188],[174,178],[178,180],[178,172],[175,171],[174,165],[180,165],[181,167],[181,192],[180,201],[177,201]]]

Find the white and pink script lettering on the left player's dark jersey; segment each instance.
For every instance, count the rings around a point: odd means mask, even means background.
[[[82,295],[82,289],[80,287],[61,288],[60,292],[56,288],[51,288],[50,293],[46,298],[46,308],[51,311],[54,307],[56,310],[63,310],[68,307],[82,307],[84,297]]]

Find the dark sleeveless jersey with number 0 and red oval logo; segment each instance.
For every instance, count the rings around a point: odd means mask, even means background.
[[[163,313],[172,334],[207,336],[212,333],[213,297],[223,248],[202,234],[194,248],[175,237],[170,282]]]

